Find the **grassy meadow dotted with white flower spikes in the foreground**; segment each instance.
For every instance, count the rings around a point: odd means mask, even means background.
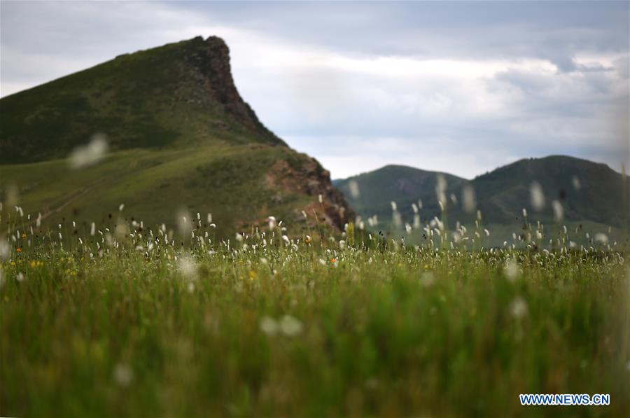
[[[630,414],[630,270],[608,244],[405,247],[279,221],[215,242],[205,216],[186,239],[131,224],[59,239],[70,225],[11,219],[2,416]]]

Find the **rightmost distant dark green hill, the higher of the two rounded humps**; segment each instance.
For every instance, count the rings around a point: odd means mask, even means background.
[[[545,195],[541,211],[535,211],[530,202],[533,181],[540,183]],[[624,183],[621,174],[605,164],[562,155],[529,158],[478,176],[471,184],[482,211],[501,223],[520,216],[523,207],[550,221],[552,201],[557,200],[568,221],[594,221],[618,228],[628,225],[630,183],[627,178]]]

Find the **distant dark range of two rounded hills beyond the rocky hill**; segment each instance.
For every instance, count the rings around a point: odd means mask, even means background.
[[[422,200],[419,211],[426,221],[440,216],[436,185],[440,173],[412,167],[388,165],[349,179],[335,180],[335,186],[346,195],[363,218],[376,214],[383,229],[391,228],[390,201],[395,201],[405,222],[412,223],[412,203]],[[524,222],[522,209],[530,220],[554,223],[554,201],[560,204],[563,223],[591,225],[617,232],[629,228],[630,181],[605,164],[552,155],[529,158],[499,167],[472,180],[442,173],[446,181],[447,217],[449,221],[472,224],[476,211],[463,210],[463,190],[474,190],[476,206],[484,223],[503,225],[503,230],[517,230]],[[531,188],[538,183],[543,204],[532,206]],[[353,190],[354,189],[354,190]],[[356,193],[358,189],[358,194]],[[353,193],[354,192],[354,193]],[[510,227],[510,228],[507,228]],[[511,232],[510,232],[511,235]]]

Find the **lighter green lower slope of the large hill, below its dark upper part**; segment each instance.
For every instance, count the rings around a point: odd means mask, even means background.
[[[292,172],[274,169],[282,161]],[[312,179],[309,165],[323,171],[314,160],[283,146],[129,150],[109,153],[99,164],[79,170],[70,169],[64,159],[0,165],[0,190],[7,194],[11,186],[18,189],[20,205],[31,214],[30,223],[18,225],[22,229],[34,225],[38,214],[44,229],[70,220],[83,227],[111,223],[125,204],[123,218],[141,219],[151,228],[162,222],[174,228],[180,211],[211,212],[217,235],[231,237],[270,213],[291,220],[302,217],[301,209],[317,196],[281,183],[294,177],[307,183]]]

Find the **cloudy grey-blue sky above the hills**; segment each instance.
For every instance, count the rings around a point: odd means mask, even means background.
[[[0,97],[221,36],[241,96],[333,179],[472,179],[520,158],[630,166],[630,2],[0,1]]]

